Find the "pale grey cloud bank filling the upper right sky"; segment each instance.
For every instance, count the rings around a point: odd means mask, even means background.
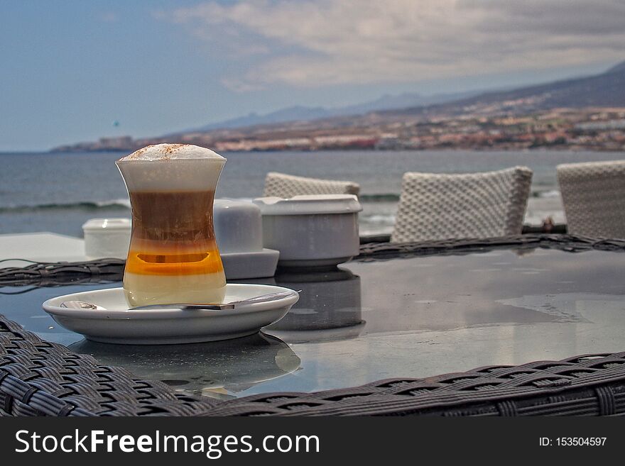
[[[415,82],[625,58],[622,0],[210,1],[170,21],[249,60],[232,89]],[[239,52],[237,52],[239,50]]]

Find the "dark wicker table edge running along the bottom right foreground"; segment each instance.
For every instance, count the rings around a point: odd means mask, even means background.
[[[225,401],[212,416],[563,416],[625,414],[625,352],[393,378]]]

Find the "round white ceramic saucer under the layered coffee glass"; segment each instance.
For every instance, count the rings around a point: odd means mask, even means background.
[[[234,310],[130,310],[123,288],[66,294],[43,303],[43,309],[68,330],[89,340],[126,345],[168,345],[227,340],[251,335],[279,321],[299,295],[292,289],[261,284],[227,284],[224,302],[261,294],[290,292],[276,301],[241,304]],[[67,309],[64,301],[85,301],[107,309]]]

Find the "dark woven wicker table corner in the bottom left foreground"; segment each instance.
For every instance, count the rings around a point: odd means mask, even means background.
[[[191,416],[211,399],[175,394],[48,343],[0,315],[0,411],[15,416]]]

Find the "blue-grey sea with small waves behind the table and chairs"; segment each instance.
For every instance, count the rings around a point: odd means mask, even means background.
[[[128,217],[129,201],[114,152],[0,153],[0,233],[51,231],[82,236],[94,217]],[[327,151],[229,152],[217,197],[252,199],[267,172],[349,179],[361,186],[362,235],[390,233],[403,172],[464,173],[527,165],[534,171],[526,223],[565,221],[555,166],[624,159],[625,152]]]

